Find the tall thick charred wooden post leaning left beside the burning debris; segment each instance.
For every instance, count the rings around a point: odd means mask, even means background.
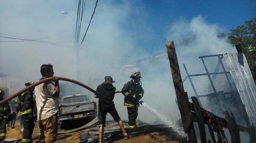
[[[181,114],[181,119],[183,123],[183,128],[185,133],[188,134],[189,142],[190,143],[197,143],[196,134],[194,131],[194,125],[190,117],[189,107],[188,107],[188,97],[185,94],[183,83],[181,80],[181,75],[179,71],[179,63],[174,47],[174,43],[167,42],[166,43],[166,50],[168,54],[168,59],[170,63],[170,68],[172,72],[172,80],[174,83],[175,93],[179,105],[179,112]]]

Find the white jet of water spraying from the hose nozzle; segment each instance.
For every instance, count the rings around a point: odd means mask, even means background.
[[[157,115],[161,121],[164,122],[165,125],[168,127],[172,127],[174,131],[181,137],[187,137],[187,134],[185,134],[184,129],[182,127],[179,127],[176,123],[172,123],[172,121],[168,118],[166,118],[163,114],[159,113],[157,110],[155,110],[153,107],[149,107],[145,102],[142,103],[144,107],[146,107],[149,111],[153,112]]]

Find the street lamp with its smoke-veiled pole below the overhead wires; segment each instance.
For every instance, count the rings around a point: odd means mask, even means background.
[[[61,12],[62,14],[67,14],[67,15],[69,15],[66,11],[62,11]],[[76,22],[76,20],[71,16],[71,15],[69,15],[75,22]],[[75,32],[76,33],[76,32]],[[75,42],[74,42],[74,48],[76,49],[76,54],[77,54],[77,56],[76,56],[76,60],[77,60],[77,81],[81,81],[81,74],[80,74],[80,56],[79,56],[79,49],[80,49],[80,47],[79,47],[79,45],[77,45],[77,36],[75,35]]]

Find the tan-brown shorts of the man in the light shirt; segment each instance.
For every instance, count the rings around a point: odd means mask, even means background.
[[[39,127],[39,142],[45,141],[56,141],[57,133],[58,133],[58,117],[57,115],[51,116],[46,119],[42,119],[38,121]]]

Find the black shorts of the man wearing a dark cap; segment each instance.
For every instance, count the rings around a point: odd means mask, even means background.
[[[99,108],[99,114],[98,114],[98,118],[99,118],[99,127],[106,127],[106,116],[107,113],[109,113],[115,121],[119,121],[121,118],[118,115],[118,112],[116,111],[116,107],[112,106],[109,107],[107,110],[102,110],[101,112],[101,108]]]

